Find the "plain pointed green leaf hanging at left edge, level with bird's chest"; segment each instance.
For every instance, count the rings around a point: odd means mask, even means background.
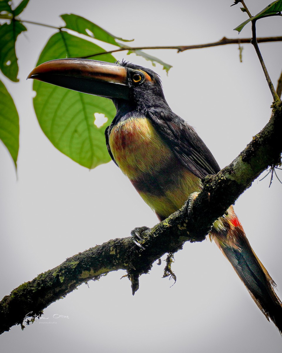
[[[5,85],[0,81],[0,139],[10,152],[17,168],[19,151],[19,115]]]

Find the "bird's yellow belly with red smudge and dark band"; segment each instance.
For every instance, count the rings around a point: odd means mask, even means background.
[[[119,168],[160,216],[178,210],[200,179],[178,161],[146,118],[129,118],[111,130],[109,145]]]

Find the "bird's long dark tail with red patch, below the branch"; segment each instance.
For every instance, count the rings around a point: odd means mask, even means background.
[[[259,309],[282,335],[282,303],[274,291],[276,284],[251,248],[233,206],[214,223],[210,238],[229,260]]]

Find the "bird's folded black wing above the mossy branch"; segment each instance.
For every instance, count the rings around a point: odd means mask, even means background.
[[[212,152],[194,128],[170,109],[153,107],[147,117],[181,163],[198,178],[220,171]]]

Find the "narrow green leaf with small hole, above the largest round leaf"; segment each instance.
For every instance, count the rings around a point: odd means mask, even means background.
[[[71,29],[75,32],[84,34],[91,38],[98,39],[99,41],[114,44],[116,46],[119,46],[119,44],[115,41],[115,39],[118,39],[123,42],[130,42],[130,40],[122,39],[110,34],[103,28],[97,26],[97,24],[94,24],[86,18],[75,15],[73,13],[63,14],[61,15],[61,18],[66,22],[65,28]]]

